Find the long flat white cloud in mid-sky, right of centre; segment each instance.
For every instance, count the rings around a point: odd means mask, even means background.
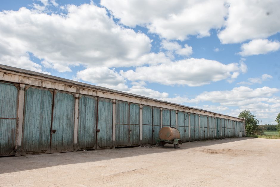
[[[122,76],[130,81],[148,81],[164,85],[201,86],[211,82],[236,78],[235,72],[243,71],[246,65],[222,64],[204,58],[159,64],[149,67],[137,67],[135,71],[121,71]],[[156,72],[156,73],[155,73]]]

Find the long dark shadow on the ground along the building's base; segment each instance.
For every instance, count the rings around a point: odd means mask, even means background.
[[[174,149],[173,144],[166,144],[164,147],[132,147],[123,149],[99,149],[84,152],[68,152],[55,154],[37,154],[20,157],[0,157],[0,174],[16,171],[25,171],[31,169],[46,168],[52,166],[60,166],[67,164],[97,162],[101,160],[110,160],[124,157],[133,157],[144,154],[155,154],[163,152],[180,151],[190,148],[198,148],[202,146],[211,146],[222,143],[231,143],[253,139],[250,137],[225,138],[206,141],[185,142],[180,145],[179,149]]]

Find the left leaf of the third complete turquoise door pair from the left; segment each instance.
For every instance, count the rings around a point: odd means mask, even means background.
[[[129,104],[123,101],[116,101],[116,131],[115,146],[128,146],[129,137]]]

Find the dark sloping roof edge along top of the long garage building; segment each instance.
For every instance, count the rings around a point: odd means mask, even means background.
[[[242,118],[233,117],[233,116],[229,116],[229,115],[225,115],[225,114],[211,112],[211,111],[208,111],[208,110],[193,108],[193,107],[190,107],[190,106],[185,106],[185,105],[181,105],[181,104],[177,104],[177,103],[170,103],[170,102],[167,102],[167,101],[161,101],[161,100],[158,100],[158,99],[153,99],[153,98],[149,98],[149,97],[145,97],[145,96],[141,96],[141,95],[122,92],[122,91],[118,91],[118,90],[114,90],[114,89],[105,88],[105,87],[102,87],[102,86],[95,86],[95,85],[92,85],[92,84],[73,81],[73,80],[69,80],[69,79],[66,79],[66,78],[56,77],[56,76],[52,76],[52,75],[48,75],[48,74],[44,74],[44,73],[39,73],[39,72],[27,70],[27,69],[21,69],[21,68],[17,68],[17,67],[7,66],[7,65],[3,65],[3,64],[0,64],[0,69],[6,70],[6,71],[12,71],[12,72],[16,72],[16,73],[23,73],[23,74],[32,75],[32,76],[39,76],[39,77],[43,77],[45,79],[51,79],[51,80],[54,80],[54,81],[61,81],[61,82],[65,82],[65,83],[68,83],[68,84],[74,84],[74,85],[80,86],[80,87],[88,87],[88,88],[91,88],[91,89],[96,89],[96,90],[100,90],[100,91],[104,91],[104,92],[112,92],[112,93],[122,94],[122,95],[129,96],[129,97],[136,97],[136,98],[151,100],[151,101],[160,102],[160,103],[164,103],[164,104],[180,106],[180,107],[187,108],[187,109],[195,109],[195,110],[200,110],[200,111],[203,111],[203,112],[209,112],[209,113],[216,114],[216,115],[223,115],[223,116],[228,116],[228,117],[231,117],[231,118],[242,119]],[[242,120],[244,120],[244,119],[242,119]]]

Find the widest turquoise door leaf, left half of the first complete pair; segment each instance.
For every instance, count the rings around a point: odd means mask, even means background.
[[[50,153],[52,96],[48,89],[25,91],[21,155]]]

